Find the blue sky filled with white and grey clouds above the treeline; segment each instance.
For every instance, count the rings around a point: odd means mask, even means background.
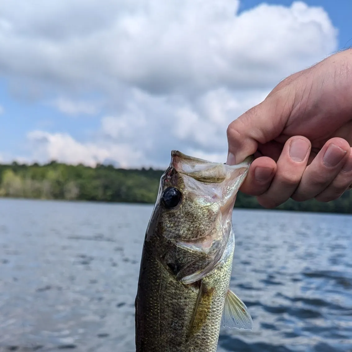
[[[346,0],[0,0],[0,162],[224,162],[226,128],[352,46]]]

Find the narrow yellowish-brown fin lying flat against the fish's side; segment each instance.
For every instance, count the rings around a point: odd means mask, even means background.
[[[198,298],[194,306],[192,319],[189,324],[187,338],[189,339],[200,331],[207,320],[212,303],[214,288],[206,288],[204,283],[201,283],[199,288]]]

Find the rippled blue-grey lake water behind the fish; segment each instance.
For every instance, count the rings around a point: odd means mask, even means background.
[[[0,200],[0,351],[132,352],[149,205]],[[235,210],[253,331],[218,351],[352,351],[352,216]]]

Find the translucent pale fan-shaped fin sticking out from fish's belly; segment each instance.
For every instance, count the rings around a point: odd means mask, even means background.
[[[230,289],[226,293],[221,325],[229,328],[253,329],[253,321],[246,305]]]

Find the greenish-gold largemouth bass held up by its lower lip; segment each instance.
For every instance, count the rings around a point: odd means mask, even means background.
[[[136,352],[215,352],[220,325],[252,330],[230,290],[232,211],[251,161],[230,166],[171,152],[143,244]]]

